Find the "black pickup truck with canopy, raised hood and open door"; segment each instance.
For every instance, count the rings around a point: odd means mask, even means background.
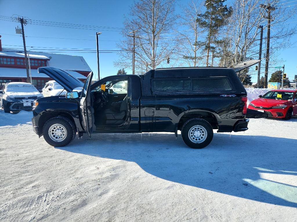
[[[32,125],[48,144],[61,147],[78,133],[178,130],[185,144],[206,147],[217,132],[246,131],[247,92],[231,68],[187,67],[114,75],[91,84],[63,70],[40,67],[67,91],[34,102]]]

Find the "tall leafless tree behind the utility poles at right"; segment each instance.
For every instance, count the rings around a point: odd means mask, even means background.
[[[288,8],[280,5],[276,0],[238,0],[233,5],[233,15],[229,18],[228,25],[224,27],[221,36],[224,39],[221,44],[222,57],[220,65],[235,66],[240,62],[257,59],[259,54],[259,26],[267,30],[266,10],[260,4],[271,4],[275,7],[272,13],[270,36],[270,55],[274,52],[290,46],[290,38],[296,33],[296,26],[289,28],[287,20],[295,16],[296,8]],[[267,38],[264,32],[264,40]],[[264,45],[263,45],[264,46]],[[265,52],[265,47],[262,52]],[[263,57],[262,57],[263,58]],[[264,58],[263,58],[264,59]]]

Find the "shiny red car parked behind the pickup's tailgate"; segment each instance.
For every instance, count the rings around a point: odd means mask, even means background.
[[[289,120],[293,115],[297,115],[297,90],[271,90],[250,102],[248,108],[265,112],[268,117]]]

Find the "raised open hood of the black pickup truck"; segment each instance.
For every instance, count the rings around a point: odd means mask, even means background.
[[[54,67],[39,67],[38,73],[48,75],[50,78],[63,86],[67,92],[72,92],[75,88],[83,87],[82,81],[61,69]]]

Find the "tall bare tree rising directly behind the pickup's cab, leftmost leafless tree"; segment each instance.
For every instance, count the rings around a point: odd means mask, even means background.
[[[174,1],[170,0],[139,0],[131,7],[129,16],[122,30],[124,41],[118,44],[124,52],[115,62],[118,67],[132,66],[133,39],[127,33],[135,32],[135,68],[138,70],[155,69],[167,61],[173,52],[173,40],[163,37],[170,32],[176,19],[173,16]]]

